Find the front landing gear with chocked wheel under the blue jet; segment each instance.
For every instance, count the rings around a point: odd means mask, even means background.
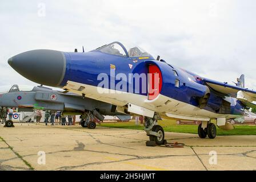
[[[157,120],[161,119],[158,114],[155,114],[153,118],[145,117],[144,130],[149,136],[149,141],[146,142],[146,146],[155,146],[165,143],[165,131],[158,125]]]

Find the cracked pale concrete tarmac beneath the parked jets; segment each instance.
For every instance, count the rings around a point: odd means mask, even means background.
[[[141,130],[0,125],[0,170],[256,170],[255,135],[165,135],[185,147],[146,147]]]

